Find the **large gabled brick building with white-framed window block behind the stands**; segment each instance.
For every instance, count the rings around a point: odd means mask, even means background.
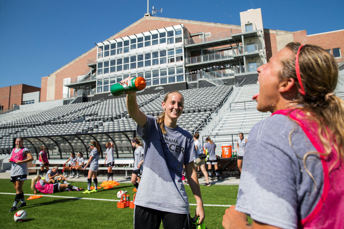
[[[263,27],[260,9],[240,12],[240,22],[230,25],[145,14],[43,77],[41,101],[108,99],[111,85],[127,76],[150,80],[142,93],[254,83],[257,67],[289,42],[320,45],[343,62],[344,30],[311,35],[306,30],[270,30]]]

